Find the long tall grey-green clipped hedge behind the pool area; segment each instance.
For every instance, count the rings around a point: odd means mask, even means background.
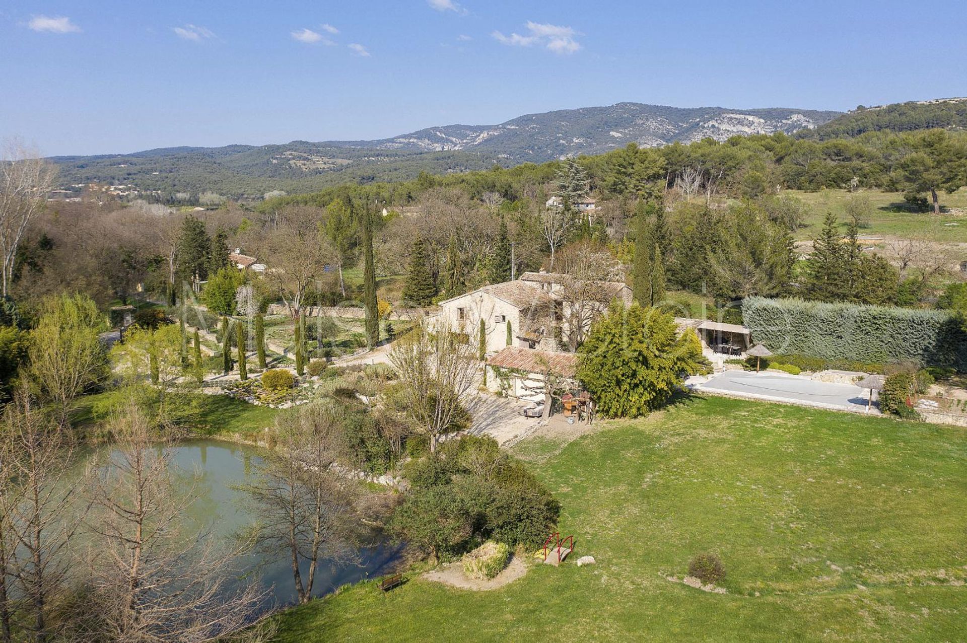
[[[777,354],[967,370],[967,334],[943,311],[749,297],[742,316],[752,340]]]

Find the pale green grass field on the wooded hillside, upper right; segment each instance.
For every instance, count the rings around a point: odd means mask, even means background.
[[[853,196],[849,190],[784,190],[782,193],[803,200],[812,210],[812,216],[805,221],[806,226],[797,232],[797,240],[815,239],[827,212],[833,212],[840,221],[845,222],[844,207]],[[940,217],[934,216],[932,212],[905,212],[903,194],[899,192],[863,190],[859,194],[868,198],[873,206],[870,224],[860,230],[860,234],[893,235],[904,239],[945,243],[967,242],[967,217],[962,212],[967,208],[967,190],[957,190],[952,194],[941,192],[940,205],[945,211],[941,212]],[[946,225],[947,223],[957,225]]]

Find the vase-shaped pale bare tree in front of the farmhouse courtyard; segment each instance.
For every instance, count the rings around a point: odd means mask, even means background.
[[[440,436],[454,423],[477,376],[477,355],[465,336],[419,323],[394,343],[396,367],[411,420],[429,436],[436,453]]]

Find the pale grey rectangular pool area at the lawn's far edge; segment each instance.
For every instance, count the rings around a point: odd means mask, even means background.
[[[799,375],[753,373],[746,370],[726,370],[704,383],[695,383],[692,388],[695,391],[711,394],[735,395],[860,413],[866,412],[866,400],[869,398],[869,390],[858,386],[818,382]],[[875,394],[870,412],[879,413]]]

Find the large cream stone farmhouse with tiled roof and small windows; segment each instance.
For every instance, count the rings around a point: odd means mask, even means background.
[[[614,299],[630,305],[631,289],[626,283],[577,283],[567,275],[524,273],[519,279],[483,286],[440,302],[435,319],[437,324],[468,336],[474,346],[484,319],[488,354],[507,346],[553,352],[560,350],[560,339],[570,337],[577,325],[587,332]]]

